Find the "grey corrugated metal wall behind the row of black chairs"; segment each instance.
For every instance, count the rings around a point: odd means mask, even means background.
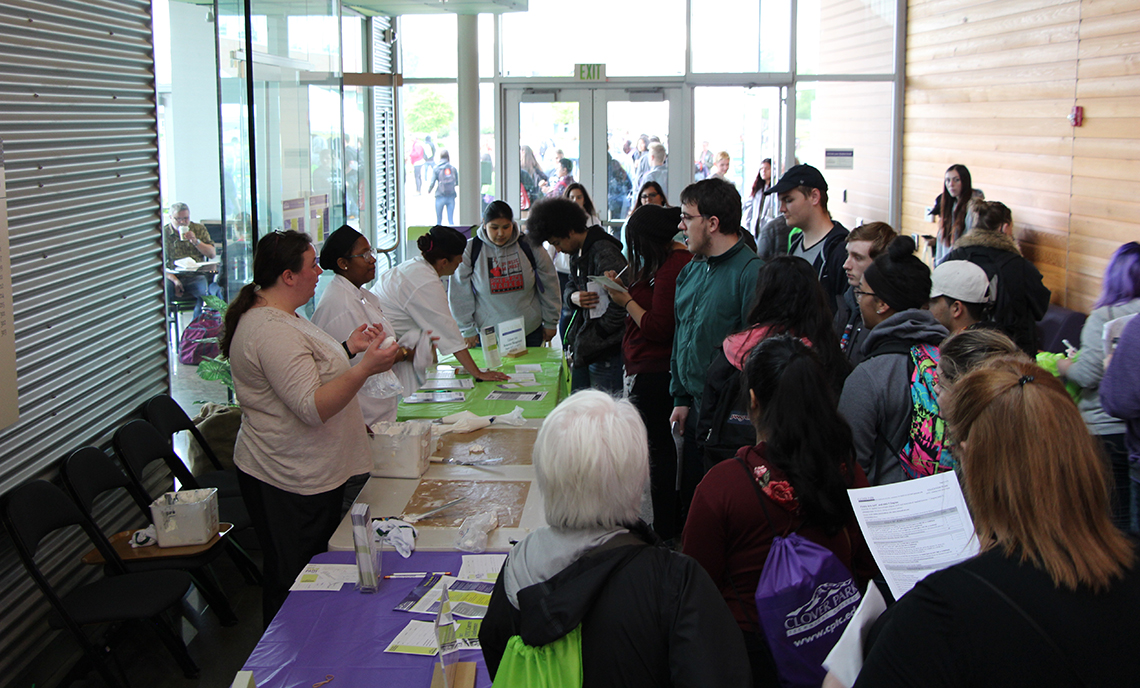
[[[55,477],[168,380],[150,3],[0,1],[19,421],[0,429],[0,491]],[[122,517],[112,514],[109,523]],[[46,547],[73,585],[79,549]],[[48,637],[47,604],[0,539],[0,675]]]

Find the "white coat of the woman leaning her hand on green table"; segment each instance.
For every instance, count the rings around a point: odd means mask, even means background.
[[[435,347],[445,354],[467,347],[447,305],[443,281],[422,255],[381,275],[372,293],[378,297],[397,339],[413,329],[430,329],[439,337]]]

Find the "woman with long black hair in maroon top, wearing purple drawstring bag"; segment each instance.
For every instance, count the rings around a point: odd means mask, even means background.
[[[868,485],[866,476],[819,354],[797,337],[772,336],[749,354],[743,375],[758,443],[714,466],[698,485],[683,551],[720,588],[744,636],[754,685],[776,686],[754,601],[773,539],[796,532],[826,547],[861,587],[878,570],[847,499],[849,488]]]

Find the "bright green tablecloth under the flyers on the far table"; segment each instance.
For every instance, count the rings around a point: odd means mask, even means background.
[[[480,367],[483,365],[483,352],[478,349],[471,350],[471,358]],[[443,357],[439,361],[442,365],[458,366],[455,357]],[[457,413],[459,411],[471,411],[477,416],[506,415],[514,410],[514,407],[522,407],[523,418],[546,418],[546,416],[559,406],[559,401],[568,394],[568,383],[562,368],[562,350],[537,347],[528,349],[527,354],[519,358],[504,358],[496,370],[507,375],[515,371],[515,366],[539,363],[542,372],[535,374],[535,382],[538,387],[519,387],[507,390],[511,392],[546,392],[546,398],[542,401],[487,401],[487,395],[499,390],[504,383],[481,383],[475,382],[474,390],[464,390],[467,400],[463,403],[404,403],[400,402],[398,418],[400,420],[412,420],[417,418],[434,419]],[[461,374],[461,377],[471,376]]]

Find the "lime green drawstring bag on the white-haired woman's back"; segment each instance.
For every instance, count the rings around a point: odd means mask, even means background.
[[[494,688],[581,688],[581,626],[554,642],[531,647],[519,636],[506,641]]]

